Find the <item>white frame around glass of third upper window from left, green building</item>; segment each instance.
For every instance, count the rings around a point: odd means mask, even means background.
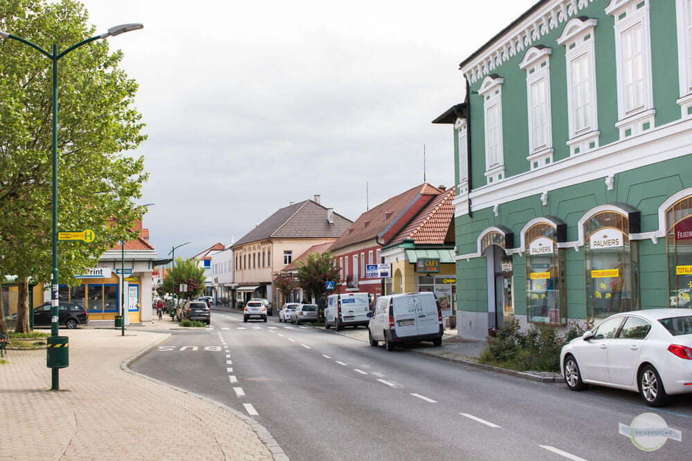
[[[519,63],[519,68],[526,70],[526,93],[529,111],[529,166],[531,171],[545,167],[553,162],[553,135],[552,115],[550,104],[550,54],[552,50],[545,46],[532,46],[527,50],[524,59]],[[534,85],[543,82],[543,101],[545,104],[545,126],[543,127],[544,142],[537,144],[535,139],[536,126],[534,126],[533,97]]]

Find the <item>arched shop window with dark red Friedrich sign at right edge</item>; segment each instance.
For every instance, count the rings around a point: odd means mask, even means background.
[[[671,308],[692,308],[692,196],[666,210]]]

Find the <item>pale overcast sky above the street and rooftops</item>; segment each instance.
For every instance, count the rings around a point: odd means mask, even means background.
[[[150,178],[138,203],[164,257],[228,245],[279,208],[322,196],[355,220],[426,180],[454,182],[459,62],[534,0],[86,0],[140,85]],[[183,251],[184,250],[184,251]]]

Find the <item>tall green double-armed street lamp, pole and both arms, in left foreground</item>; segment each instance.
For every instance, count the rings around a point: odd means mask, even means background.
[[[66,50],[62,51],[62,53],[57,52],[57,44],[53,44],[52,53],[48,53],[48,51],[44,50],[38,45],[31,43],[26,39],[17,37],[16,35],[12,35],[8,32],[3,32],[2,30],[0,30],[0,37],[5,39],[21,41],[21,43],[28,45],[31,48],[34,48],[35,50],[38,50],[48,59],[51,59],[51,62],[53,63],[53,271],[51,272],[51,337],[57,337],[57,308],[59,303],[57,294],[57,61],[67,53],[70,53],[72,50],[75,50],[76,48],[79,48],[82,45],[86,45],[91,41],[104,39],[106,37],[109,37],[110,35],[115,37],[116,35],[120,35],[123,32],[129,32],[130,30],[138,30],[141,28],[144,28],[142,24],[120,24],[120,26],[109,28],[108,32],[104,32],[101,35],[95,35],[94,37],[91,37],[89,39],[82,40],[78,44],[70,46]],[[53,368],[52,371],[53,373],[51,377],[51,389],[53,389],[53,391],[58,391],[60,389],[58,375],[59,369]]]

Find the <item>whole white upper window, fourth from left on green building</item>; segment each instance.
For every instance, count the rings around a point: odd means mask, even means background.
[[[570,126],[570,155],[599,147],[599,122],[596,106],[596,19],[576,17],[569,21],[558,44],[566,49],[567,107]]]

